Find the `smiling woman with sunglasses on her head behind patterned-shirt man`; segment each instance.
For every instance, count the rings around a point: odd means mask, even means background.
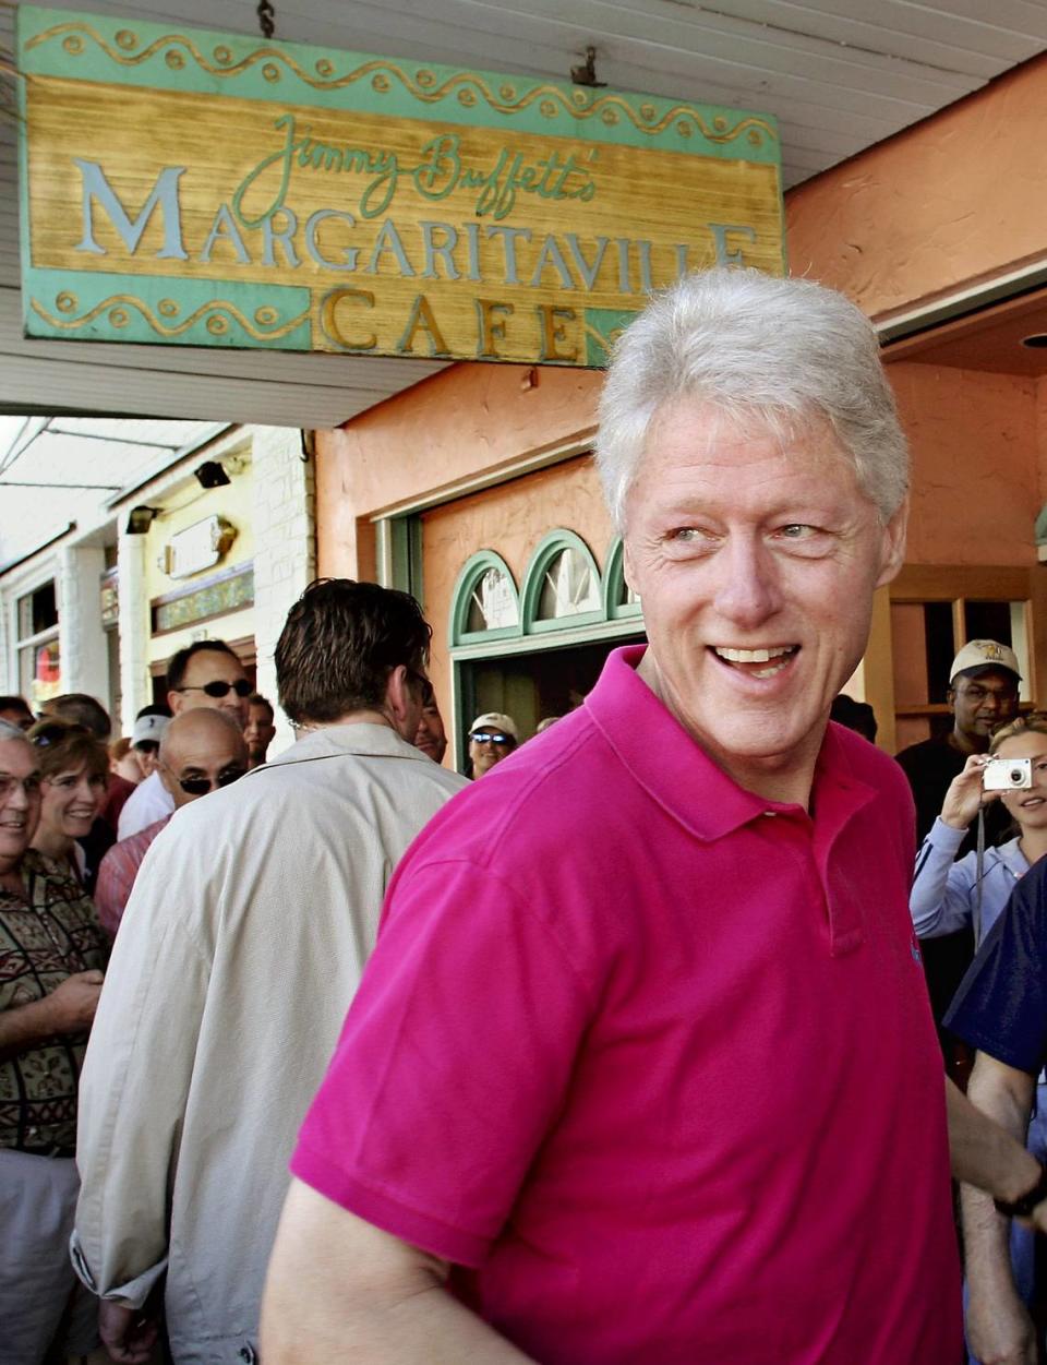
[[[29,740],[37,751],[42,793],[33,848],[93,886],[97,868],[87,867],[76,841],[91,833],[105,804],[109,753],[86,726],[71,721],[40,721]]]

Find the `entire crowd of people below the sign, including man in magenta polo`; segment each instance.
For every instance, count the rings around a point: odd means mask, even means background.
[[[840,696],[905,546],[875,334],[683,280],[597,463],[648,643],[467,774],[371,583],[291,609],[272,759],[221,640],[126,740],[0,698],[0,1365],[958,1365],[950,1170],[971,1360],[1036,1361],[1047,718],[990,640],[898,763]]]

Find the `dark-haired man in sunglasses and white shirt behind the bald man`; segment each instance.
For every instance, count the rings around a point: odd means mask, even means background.
[[[243,665],[225,640],[197,640],[172,654],[168,663],[167,703],[172,715],[201,708],[223,711],[243,730],[251,692],[254,688]],[[161,782],[160,773],[153,773],[138,785],[120,811],[117,837],[128,839],[173,814],[173,797]]]

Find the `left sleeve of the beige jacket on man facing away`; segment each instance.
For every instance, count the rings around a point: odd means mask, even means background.
[[[184,859],[169,867],[167,849],[161,835],[128,901],[79,1097],[72,1263],[96,1294],[132,1308],[167,1267],[168,1192],[210,976],[210,949],[188,912],[205,879]],[[165,895],[175,883],[176,906]]]

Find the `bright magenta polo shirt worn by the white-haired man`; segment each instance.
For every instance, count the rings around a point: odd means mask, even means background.
[[[744,792],[640,654],[415,841],[292,1170],[542,1365],[954,1365],[905,778]]]

